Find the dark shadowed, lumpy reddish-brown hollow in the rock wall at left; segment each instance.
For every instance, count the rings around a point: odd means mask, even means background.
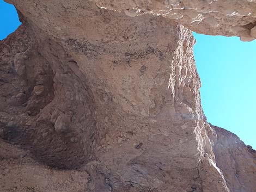
[[[68,64],[72,61],[58,67],[57,58],[46,60],[26,26],[1,42],[1,49],[3,138],[57,168],[73,168],[93,159],[94,101],[83,76],[71,72]],[[24,66],[22,74],[16,63]],[[72,92],[77,92],[78,98],[73,98]]]

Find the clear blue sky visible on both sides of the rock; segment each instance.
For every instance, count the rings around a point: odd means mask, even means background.
[[[13,5],[0,0],[0,40],[19,25]],[[256,41],[194,36],[202,106],[208,122],[237,134],[256,149]]]

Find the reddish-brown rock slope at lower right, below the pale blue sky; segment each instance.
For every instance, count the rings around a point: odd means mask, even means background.
[[[256,151],[245,145],[234,133],[212,126],[217,133],[214,153],[230,191],[255,191]]]

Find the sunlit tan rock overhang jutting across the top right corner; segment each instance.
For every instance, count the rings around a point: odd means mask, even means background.
[[[240,36],[242,41],[256,38],[254,0],[94,0],[100,8],[124,11],[126,15],[162,15],[208,35]]]

